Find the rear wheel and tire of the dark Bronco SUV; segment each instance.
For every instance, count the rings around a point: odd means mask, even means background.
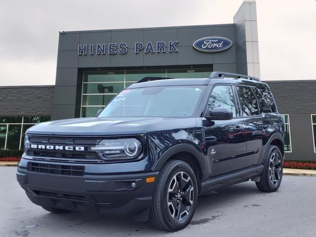
[[[260,182],[256,182],[257,188],[262,192],[275,192],[281,184],[283,174],[283,158],[278,147],[270,145]]]

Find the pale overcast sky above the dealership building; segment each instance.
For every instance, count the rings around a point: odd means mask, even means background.
[[[0,0],[0,85],[55,84],[58,31],[233,23],[242,0]],[[262,80],[316,79],[316,0],[257,0]]]

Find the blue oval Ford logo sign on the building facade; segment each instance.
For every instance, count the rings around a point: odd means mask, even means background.
[[[193,43],[194,49],[205,53],[224,51],[232,47],[232,40],[224,37],[205,37]]]

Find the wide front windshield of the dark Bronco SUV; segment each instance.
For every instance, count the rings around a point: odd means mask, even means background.
[[[192,117],[205,86],[156,86],[125,89],[100,117]]]

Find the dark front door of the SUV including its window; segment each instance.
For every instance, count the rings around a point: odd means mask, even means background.
[[[246,124],[238,118],[237,99],[231,85],[215,85],[208,107],[226,107],[233,112],[231,120],[213,120],[205,129],[205,146],[210,159],[210,176],[244,168],[246,153]]]

